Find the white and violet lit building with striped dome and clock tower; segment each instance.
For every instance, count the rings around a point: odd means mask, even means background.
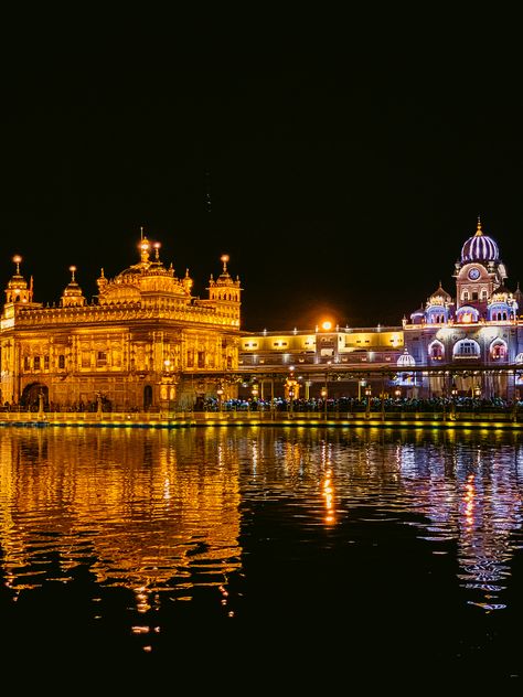
[[[455,298],[439,285],[410,322],[403,320],[408,365],[433,368],[430,375],[410,377],[421,394],[511,399],[523,385],[523,293],[519,285],[515,291],[505,286],[498,244],[479,219],[461,247],[453,278]],[[439,376],[438,367],[444,368]]]

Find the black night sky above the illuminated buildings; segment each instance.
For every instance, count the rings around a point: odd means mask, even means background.
[[[308,329],[327,311],[341,325],[399,324],[439,280],[453,293],[478,215],[509,287],[523,285],[510,35],[182,34],[159,22],[7,54],[3,286],[20,254],[36,301],[58,300],[70,265],[90,299],[102,267],[137,261],[143,226],[201,297],[230,255],[243,329]]]

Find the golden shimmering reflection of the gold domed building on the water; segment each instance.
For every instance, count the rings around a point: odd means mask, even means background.
[[[226,598],[242,553],[238,464],[226,439],[216,450],[209,433],[163,429],[2,436],[0,546],[14,592],[68,582],[88,556],[96,581],[131,589],[142,614],[158,590],[188,597],[200,568]]]

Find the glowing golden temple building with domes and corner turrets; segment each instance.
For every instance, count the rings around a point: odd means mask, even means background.
[[[174,276],[160,244],[142,235],[139,261],[97,279],[88,303],[72,278],[56,307],[33,300],[33,279],[15,272],[0,323],[1,403],[50,409],[190,408],[238,366],[241,293],[228,257],[209,297],[191,294],[189,270]]]

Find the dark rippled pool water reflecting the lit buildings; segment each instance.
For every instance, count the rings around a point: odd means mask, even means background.
[[[213,676],[233,661],[258,677],[278,666],[289,684],[323,671],[523,675],[517,433],[11,427],[0,438],[9,654],[198,657],[203,673],[214,658]]]

